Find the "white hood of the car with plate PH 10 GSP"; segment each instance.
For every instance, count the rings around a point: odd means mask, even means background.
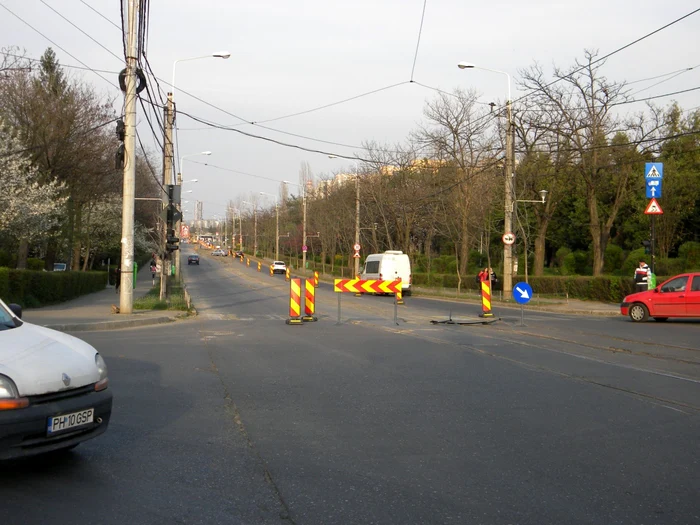
[[[31,323],[0,331],[0,374],[15,382],[20,396],[96,383],[96,353],[85,341]]]

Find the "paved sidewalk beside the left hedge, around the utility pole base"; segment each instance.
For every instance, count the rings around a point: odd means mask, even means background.
[[[134,299],[143,297],[151,288],[151,272],[146,268],[136,277]],[[79,332],[169,323],[183,316],[183,312],[170,310],[135,310],[132,314],[113,314],[112,305],[119,306],[119,295],[114,286],[108,286],[100,292],[65,303],[25,309],[22,319],[61,332]]]

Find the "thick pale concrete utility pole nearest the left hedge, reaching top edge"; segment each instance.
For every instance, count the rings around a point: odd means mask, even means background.
[[[134,197],[136,191],[136,18],[138,0],[129,0],[124,100],[124,182],[122,202],[121,274],[118,276],[119,313],[134,310]]]

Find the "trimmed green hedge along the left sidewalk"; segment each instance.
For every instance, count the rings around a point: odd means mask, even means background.
[[[0,299],[36,308],[104,290],[107,272],[44,272],[0,268]]]

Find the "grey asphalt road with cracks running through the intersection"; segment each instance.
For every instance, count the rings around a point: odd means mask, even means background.
[[[3,465],[3,523],[700,523],[700,324],[288,285],[184,267],[199,316],[80,333],[107,359],[110,429]]]

